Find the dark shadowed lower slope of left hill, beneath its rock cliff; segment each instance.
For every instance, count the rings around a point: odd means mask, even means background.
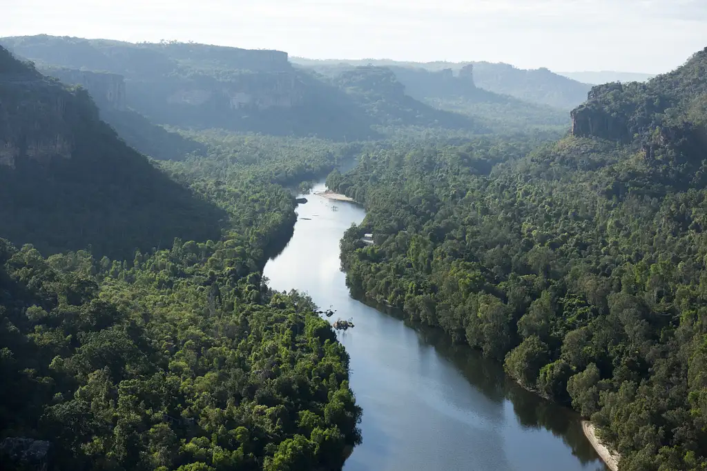
[[[225,211],[153,167],[105,123],[88,124],[75,145],[68,160],[0,167],[0,237],[45,256],[90,249],[111,258],[169,248],[175,237],[221,237]]]

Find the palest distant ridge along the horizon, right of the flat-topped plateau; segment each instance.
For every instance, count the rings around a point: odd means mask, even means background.
[[[381,66],[391,68],[424,69],[431,72],[450,70],[459,73],[467,66],[473,66],[474,82],[477,87],[490,92],[510,95],[525,102],[547,105],[557,109],[572,109],[583,102],[590,85],[573,81],[553,73],[547,68],[525,70],[509,64],[489,62],[404,62],[390,59],[328,59],[314,60],[293,57],[293,64],[312,68],[320,73],[341,70],[351,66]],[[401,81],[404,80],[401,78]],[[407,85],[407,83],[406,83]]]

